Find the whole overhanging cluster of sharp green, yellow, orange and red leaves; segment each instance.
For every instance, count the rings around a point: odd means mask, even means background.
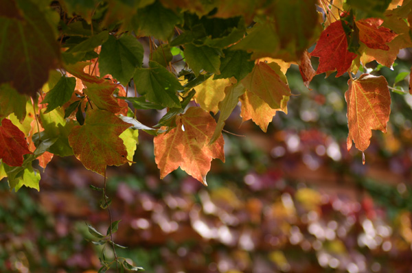
[[[239,102],[264,131],[287,112],[291,64],[307,87],[316,74],[350,75],[347,149],[363,152],[371,130],[386,132],[391,96],[384,77],[352,73],[391,67],[412,46],[410,0],[49,2],[0,11],[0,178],[16,190],[39,189],[33,162],[54,155],[102,175],[133,163],[138,130],[155,135],[161,178],[181,167],[206,184]],[[165,112],[152,127],[136,119],[150,109]]]

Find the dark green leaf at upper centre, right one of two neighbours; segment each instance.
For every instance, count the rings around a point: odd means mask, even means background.
[[[251,73],[255,62],[251,55],[243,50],[224,49],[224,58],[220,59],[220,75],[214,75],[214,80],[235,77],[238,82]]]

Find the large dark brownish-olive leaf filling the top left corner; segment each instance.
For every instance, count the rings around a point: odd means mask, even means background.
[[[36,96],[49,70],[58,68],[60,48],[52,27],[32,1],[14,1],[8,16],[0,15],[0,84]]]

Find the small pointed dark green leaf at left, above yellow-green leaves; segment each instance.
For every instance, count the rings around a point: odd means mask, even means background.
[[[50,90],[42,104],[48,104],[45,113],[50,112],[58,107],[69,102],[73,95],[74,87],[76,86],[76,78],[66,77],[62,75],[57,84]]]

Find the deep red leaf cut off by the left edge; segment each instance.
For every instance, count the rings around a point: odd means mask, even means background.
[[[9,166],[21,166],[24,154],[32,154],[24,133],[10,119],[3,119],[0,126],[0,159]]]

